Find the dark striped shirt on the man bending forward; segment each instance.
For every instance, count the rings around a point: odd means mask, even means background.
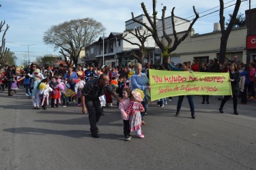
[[[107,84],[106,86],[99,86],[99,78],[89,80],[82,90],[83,95],[90,99],[97,99],[106,92],[113,94],[115,89],[110,84]]]

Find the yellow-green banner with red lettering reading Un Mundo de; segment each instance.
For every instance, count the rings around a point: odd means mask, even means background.
[[[229,73],[150,69],[151,100],[180,95],[232,95]]]

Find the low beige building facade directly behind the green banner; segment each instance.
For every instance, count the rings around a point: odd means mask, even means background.
[[[227,41],[226,57],[230,60],[237,55],[243,63],[246,63],[246,32],[247,28],[233,29]],[[182,37],[183,33],[178,33]],[[173,38],[173,35],[170,35]],[[221,31],[213,31],[202,35],[195,34],[192,30],[190,35],[182,41],[177,49],[171,52],[171,61],[175,64],[185,61],[197,61],[209,63],[210,59],[218,58],[221,44]]]

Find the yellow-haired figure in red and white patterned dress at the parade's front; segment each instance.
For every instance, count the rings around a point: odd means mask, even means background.
[[[137,137],[143,138],[144,135],[141,132],[141,112],[144,112],[145,109],[141,105],[143,101],[144,93],[139,88],[132,90],[130,105],[126,110],[126,114],[130,116],[130,131],[136,131]]]

